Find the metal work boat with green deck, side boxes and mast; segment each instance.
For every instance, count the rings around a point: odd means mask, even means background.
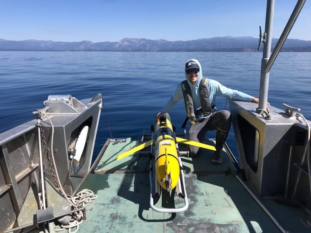
[[[53,153],[60,183],[67,194],[88,188],[98,195],[80,208],[86,209],[87,219],[79,226],[79,232],[310,232],[309,121],[307,126],[296,113],[299,108],[284,105],[285,111],[267,109],[270,68],[304,2],[297,2],[270,57],[274,1],[267,1],[265,33],[260,36],[265,43],[259,106],[229,101],[241,167],[226,145],[224,161],[219,165],[210,163],[211,151],[203,149],[198,157],[189,158],[186,148],[179,146],[189,200],[184,212],[159,213],[150,208],[149,174],[145,171],[148,148],[121,163],[116,161],[118,154],[145,141],[145,133],[142,139],[108,139],[90,167],[101,94],[81,101],[69,95],[49,96],[44,102],[46,116],[41,118],[48,145],[52,141],[48,119],[57,135]],[[41,139],[36,123],[37,120],[29,121],[0,134],[0,232],[18,232],[37,225],[43,232],[47,228],[44,222],[53,224],[73,212],[57,191],[46,152],[39,165]],[[90,127],[90,131],[76,170],[71,157],[74,158],[73,145],[83,126]],[[213,140],[205,143],[215,144]],[[53,210],[48,214],[38,212],[42,187],[46,209]],[[285,206],[275,200],[298,205]],[[163,192],[153,204],[179,208],[183,199]]]

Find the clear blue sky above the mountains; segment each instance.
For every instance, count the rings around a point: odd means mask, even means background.
[[[276,0],[273,38],[279,38],[295,0]],[[266,1],[2,1],[0,38],[92,42],[123,38],[192,40],[214,36],[258,37]],[[288,38],[311,40],[311,1]]]

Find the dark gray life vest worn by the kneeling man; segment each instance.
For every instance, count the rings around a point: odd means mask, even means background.
[[[191,89],[190,89],[190,86],[187,80],[184,80],[181,82],[181,88],[183,90],[183,99],[185,101],[187,117],[189,120],[195,121],[198,111],[196,111],[193,107]],[[200,93],[199,95],[200,95],[202,113],[204,117],[207,117],[211,114],[212,108],[215,107],[215,106],[211,107],[210,98],[208,95],[208,78],[202,78],[199,84],[199,93]]]

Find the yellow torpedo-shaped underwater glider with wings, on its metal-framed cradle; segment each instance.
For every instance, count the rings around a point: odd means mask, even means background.
[[[172,126],[170,116],[165,113],[151,126],[151,140],[118,156],[118,160],[133,154],[143,148],[151,146],[152,158],[150,161],[150,206],[158,212],[182,212],[188,208],[188,199],[185,190],[183,166],[179,154],[178,142],[190,144],[210,150],[216,150],[214,146],[194,142],[176,137],[175,127]],[[171,192],[175,187],[177,194],[184,199],[182,208],[157,208],[153,199],[160,195],[161,187]]]

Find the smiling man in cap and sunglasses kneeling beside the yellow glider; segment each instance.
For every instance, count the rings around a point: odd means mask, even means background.
[[[223,144],[231,127],[231,114],[227,110],[212,111],[215,108],[216,96],[255,103],[258,103],[259,99],[243,92],[229,89],[216,80],[203,78],[201,65],[196,59],[186,62],[185,76],[186,80],[177,86],[174,95],[157,115],[156,120],[183,98],[187,118],[190,121],[188,139],[203,143],[208,130],[217,130],[216,151],[212,162],[221,163]],[[183,128],[188,119],[184,122]],[[190,156],[196,156],[201,152],[201,148],[191,145],[188,146],[188,150]]]

